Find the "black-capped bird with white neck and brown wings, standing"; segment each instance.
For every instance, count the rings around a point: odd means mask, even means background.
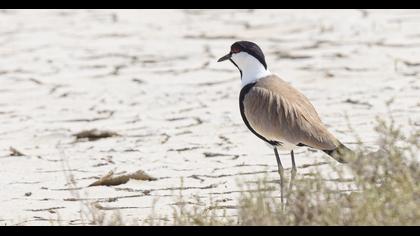
[[[341,143],[321,121],[309,99],[267,67],[261,48],[254,42],[237,41],[218,62],[229,60],[240,72],[239,108],[247,128],[274,150],[283,203],[284,169],[278,150],[289,151],[292,160],[290,186],[297,168],[293,150],[321,150],[340,163],[354,152]],[[291,187],[289,187],[290,189]]]

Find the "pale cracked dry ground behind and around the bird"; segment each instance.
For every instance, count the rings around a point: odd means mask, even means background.
[[[0,224],[83,224],[79,199],[142,223],[153,202],[158,215],[180,204],[181,179],[186,204],[235,214],[238,181],[278,178],[241,120],[239,73],[216,63],[244,39],[348,146],[346,115],[374,149],[391,98],[397,123],[419,129],[420,11],[1,10]],[[89,129],[119,136],[73,136]],[[304,174],[331,160],[301,148],[296,161]],[[157,180],[87,187],[111,170]]]

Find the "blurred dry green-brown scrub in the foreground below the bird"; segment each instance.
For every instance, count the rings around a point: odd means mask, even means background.
[[[420,225],[419,131],[403,134],[393,120],[378,119],[379,151],[368,153],[362,145],[356,160],[333,165],[335,181],[326,181],[320,170],[297,175],[282,207],[277,189],[261,179],[244,185],[235,216],[216,214],[217,204],[177,205],[171,216],[151,214],[144,225]],[[343,175],[350,171],[352,178]],[[350,188],[340,190],[348,183]],[[185,202],[182,192],[178,202]],[[191,201],[188,199],[188,201]],[[198,200],[197,200],[198,201]],[[198,205],[198,204],[197,204]],[[116,213],[106,216],[82,204],[83,222],[90,225],[132,225]],[[134,223],[136,224],[136,223]]]

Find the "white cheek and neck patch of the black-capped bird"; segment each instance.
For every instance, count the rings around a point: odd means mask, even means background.
[[[233,54],[231,59],[242,71],[242,87],[271,75],[271,72],[268,69],[265,69],[260,61],[246,52]]]

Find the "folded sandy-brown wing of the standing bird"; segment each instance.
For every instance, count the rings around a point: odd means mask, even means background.
[[[268,140],[321,150],[338,145],[309,100],[275,75],[258,80],[245,94],[243,106],[249,125]]]

